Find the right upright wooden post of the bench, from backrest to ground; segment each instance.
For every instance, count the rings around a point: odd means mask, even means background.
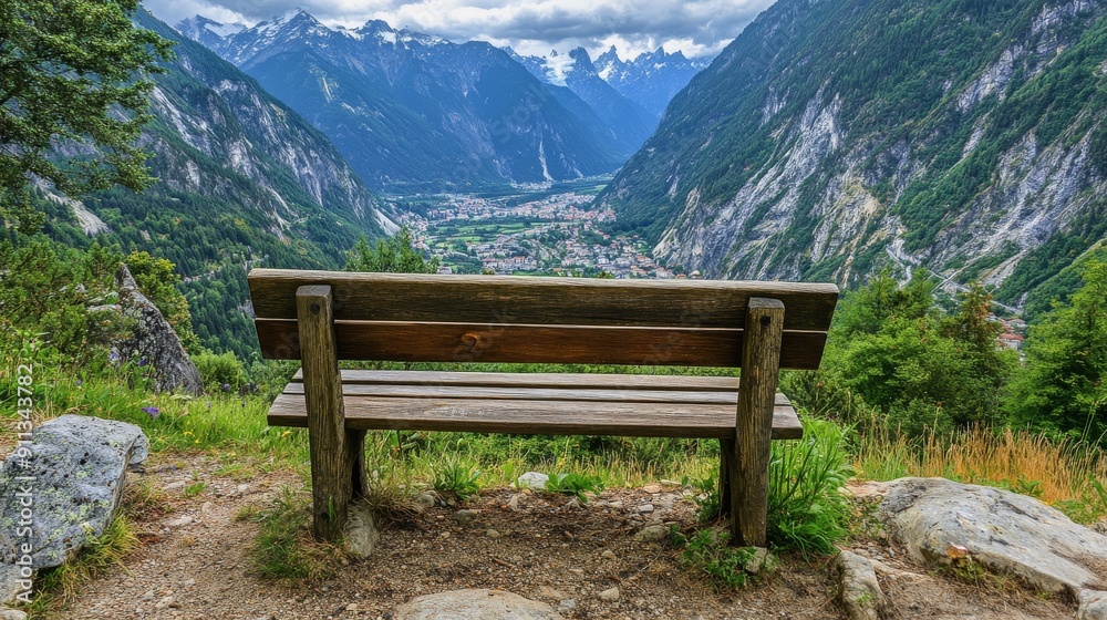
[[[727,463],[732,485],[731,544],[741,547],[766,544],[769,441],[784,317],[785,306],[778,299],[749,300],[735,421],[736,451]]]

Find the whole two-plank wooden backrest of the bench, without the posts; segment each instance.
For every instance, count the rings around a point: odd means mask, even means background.
[[[816,369],[828,283],[255,269],[267,359],[300,359],[297,290],[330,287],[340,360],[741,366],[751,299],[784,303],[780,368]]]

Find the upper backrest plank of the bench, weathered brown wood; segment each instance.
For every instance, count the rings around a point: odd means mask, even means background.
[[[339,320],[495,324],[734,328],[749,298],[788,307],[786,330],[826,331],[838,288],[829,283],[736,280],[600,280],[501,276],[356,273],[255,269],[254,311],[294,319],[297,288],[327,285]]]

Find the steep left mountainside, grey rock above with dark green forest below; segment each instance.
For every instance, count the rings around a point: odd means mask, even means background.
[[[117,188],[80,202],[41,187],[53,216],[46,232],[172,260],[186,282],[197,280],[186,290],[204,344],[248,359],[246,267],[339,268],[360,236],[393,225],[319,130],[145,10],[134,19],[176,43],[175,60],[153,75],[154,120],[139,137],[158,180],[142,194]]]

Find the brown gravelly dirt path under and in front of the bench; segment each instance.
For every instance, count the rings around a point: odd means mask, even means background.
[[[120,570],[90,583],[58,618],[161,619],[389,619],[413,597],[461,588],[499,588],[541,600],[567,619],[839,618],[826,566],[782,558],[769,578],[738,591],[716,592],[679,564],[679,551],[635,539],[650,520],[695,525],[681,490],[650,485],[608,489],[582,507],[561,496],[486,489],[459,507],[435,506],[382,531],[373,556],[341,568],[335,579],[282,585],[256,577],[249,551],[257,525],[237,520],[248,505],[263,506],[280,487],[301,482],[288,473],[236,480],[213,474],[207,457],[152,462],[145,476],[168,487],[173,512],[139,523],[142,549]],[[187,485],[204,490],[185,497]],[[517,496],[517,497],[516,497]],[[513,497],[515,497],[513,502]],[[639,513],[651,504],[652,513]],[[463,515],[458,508],[475,510]],[[187,517],[187,518],[185,518]],[[1070,618],[1067,601],[1039,600],[1012,585],[973,587],[932,576],[879,541],[853,550],[890,567],[881,586],[888,617],[1007,620]],[[619,588],[618,601],[599,592]]]

